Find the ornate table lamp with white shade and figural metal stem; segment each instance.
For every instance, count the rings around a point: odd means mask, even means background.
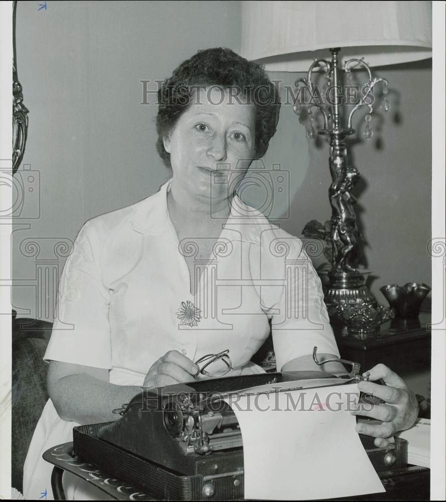
[[[263,64],[267,71],[306,72],[295,82],[293,109],[306,123],[309,139],[316,137],[314,113],[321,113],[324,126],[318,134],[330,141],[332,263],[325,292],[329,311],[376,307],[365,285],[364,274],[370,271],[355,264],[360,235],[352,189],[359,172],[349,163],[346,140],[355,133],[354,113],[364,107],[363,135],[372,137],[374,90],[381,87],[382,106],[384,110],[390,106],[387,81],[374,78],[370,67],[431,57],[431,9],[431,2],[242,2],[242,56]],[[350,76],[359,69],[367,81],[361,97],[347,107],[341,71]],[[315,83],[320,72],[325,81],[322,91]]]

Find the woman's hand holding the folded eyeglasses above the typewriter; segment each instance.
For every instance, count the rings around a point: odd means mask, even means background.
[[[143,387],[164,387],[166,385],[192,382],[199,367],[178,350],[169,350],[148,370]]]

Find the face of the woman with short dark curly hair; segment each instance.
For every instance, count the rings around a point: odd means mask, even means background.
[[[228,170],[244,176],[252,161],[254,105],[240,103],[227,90],[216,87],[202,88],[191,99],[192,104],[164,140],[173,183],[195,198],[222,200],[231,195]]]

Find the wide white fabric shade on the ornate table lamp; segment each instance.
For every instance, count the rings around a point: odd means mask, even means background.
[[[369,66],[432,56],[431,2],[242,2],[241,54],[268,71],[308,71],[313,58]]]

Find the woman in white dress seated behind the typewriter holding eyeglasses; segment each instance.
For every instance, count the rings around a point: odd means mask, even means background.
[[[73,426],[116,420],[112,410],[140,387],[203,378],[194,363],[203,355],[229,349],[228,376],[261,372],[250,359],[272,330],[278,370],[345,373],[312,359],[315,345],[322,358],[339,352],[302,242],[233,189],[265,154],[279,106],[266,72],[228,49],[198,52],[164,82],[158,150],[172,178],[155,195],[89,220],[76,238],[45,354],[51,399],[26,459],[26,498],[50,486],[42,452],[72,440]],[[358,431],[385,445],[413,424],[417,404],[389,368],[370,373],[387,385],[362,389],[387,404],[368,413],[382,424]],[[66,473],[64,489],[69,499],[101,498]]]

